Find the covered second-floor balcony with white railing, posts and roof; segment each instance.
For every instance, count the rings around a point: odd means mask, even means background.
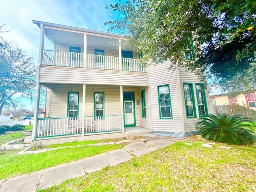
[[[41,29],[40,65],[77,70],[147,73],[135,48],[124,36],[59,24],[33,21]],[[44,36],[53,45],[48,48]],[[49,43],[48,43],[49,44]]]

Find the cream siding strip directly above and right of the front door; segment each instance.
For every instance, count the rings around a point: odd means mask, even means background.
[[[123,92],[134,92],[134,106],[135,106],[135,120],[136,120],[136,126],[140,125],[140,117],[141,117],[141,105],[137,105],[136,101],[137,99],[140,100],[140,93],[138,87],[133,86],[123,86]]]

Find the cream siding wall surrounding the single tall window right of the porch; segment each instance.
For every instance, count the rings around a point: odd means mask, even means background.
[[[183,132],[177,72],[168,71],[170,62],[149,66],[152,127],[158,132]],[[172,119],[160,119],[157,86],[169,84]]]

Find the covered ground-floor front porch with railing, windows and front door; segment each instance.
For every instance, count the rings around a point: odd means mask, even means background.
[[[130,130],[136,132],[134,127],[151,129],[150,119],[145,118],[146,105],[142,117],[141,92],[145,94],[146,90],[147,97],[147,86],[51,84],[48,87],[51,89],[47,90],[46,116],[36,120],[36,139],[127,134]]]

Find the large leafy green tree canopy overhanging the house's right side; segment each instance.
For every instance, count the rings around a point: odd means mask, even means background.
[[[128,0],[107,5],[122,18],[106,22],[126,34],[143,60],[169,59],[230,91],[256,86],[256,1]],[[186,58],[184,59],[186,54]]]

